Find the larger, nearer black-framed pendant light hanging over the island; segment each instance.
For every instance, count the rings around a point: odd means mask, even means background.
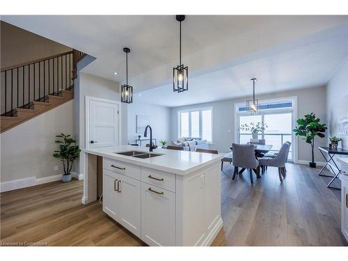
[[[173,92],[182,93],[189,89],[189,68],[181,63],[181,22],[184,21],[184,15],[177,15],[176,19],[180,22],[180,54],[179,65],[173,68]]]

